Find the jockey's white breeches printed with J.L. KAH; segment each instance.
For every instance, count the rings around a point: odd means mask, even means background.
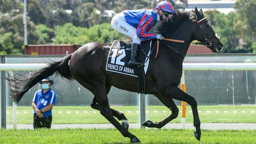
[[[123,13],[118,13],[112,18],[111,26],[114,30],[131,37],[133,40],[132,43],[141,44],[141,39],[139,39],[136,34],[137,29],[128,24]]]

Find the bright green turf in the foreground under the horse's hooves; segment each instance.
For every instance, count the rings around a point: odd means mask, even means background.
[[[255,144],[256,130],[202,130],[200,142],[188,129],[130,129],[141,144]],[[129,144],[117,129],[0,130],[1,144]]]

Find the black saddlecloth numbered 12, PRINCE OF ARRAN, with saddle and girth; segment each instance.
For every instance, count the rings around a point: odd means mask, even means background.
[[[155,43],[155,42],[154,42]],[[143,63],[143,66],[128,66],[131,57],[132,44],[126,44],[122,41],[113,41],[109,50],[106,70],[137,77],[137,93],[146,94],[145,74],[147,73],[152,41],[143,41],[138,48],[136,61]]]

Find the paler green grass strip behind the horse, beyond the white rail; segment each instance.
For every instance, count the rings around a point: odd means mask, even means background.
[[[138,106],[111,106],[111,108],[118,111],[122,111],[130,123],[139,123],[139,115],[136,111],[139,111]],[[181,107],[178,106],[181,111]],[[233,112],[237,111],[236,113]],[[12,124],[12,107],[8,107],[7,111],[7,124]],[[18,124],[32,124],[32,107],[17,107],[17,120]],[[58,113],[62,111],[62,113]],[[70,111],[70,113],[67,113]],[[76,113],[79,111],[79,113]],[[84,113],[87,111],[87,113]],[[93,113],[95,111],[96,113]],[[131,111],[128,113],[127,111]],[[146,120],[152,120],[153,122],[161,121],[171,114],[171,111],[165,106],[147,106],[146,107]],[[157,111],[157,113],[155,112]],[[163,113],[166,111],[166,113]],[[193,115],[190,113],[191,107],[187,106],[186,123],[193,123]],[[198,106],[201,123],[256,123],[256,106]],[[207,113],[210,111],[210,113]],[[219,111],[216,113],[215,111]],[[228,111],[228,113],[224,113]],[[245,113],[243,113],[244,111]],[[252,113],[255,111],[255,113]],[[26,114],[24,112],[27,112]],[[181,122],[181,112],[178,118],[171,121],[171,123]],[[92,109],[89,106],[54,106],[53,108],[53,120],[52,124],[99,124],[109,123],[99,111]]]

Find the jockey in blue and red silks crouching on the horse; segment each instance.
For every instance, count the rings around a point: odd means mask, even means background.
[[[169,14],[174,12],[173,6],[169,2],[163,1],[156,5],[156,10],[124,10],[112,18],[112,28],[124,35],[128,35],[133,39],[131,59],[128,62],[129,66],[142,65],[142,63],[138,63],[135,60],[137,57],[137,47],[141,41],[163,39],[161,34],[149,33],[148,31],[156,24],[158,20],[163,21],[169,17]]]

